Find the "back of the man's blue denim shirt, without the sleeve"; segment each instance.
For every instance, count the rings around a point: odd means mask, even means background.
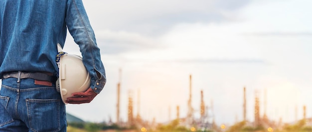
[[[56,44],[66,37],[66,0],[0,0],[0,12],[0,76],[55,73]]]

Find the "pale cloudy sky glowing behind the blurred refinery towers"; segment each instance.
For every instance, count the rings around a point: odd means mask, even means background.
[[[242,121],[244,87],[251,122],[256,95],[260,114],[271,120],[300,120],[304,105],[312,117],[311,0],[83,2],[107,84],[91,103],[66,105],[68,113],[89,122],[115,122],[121,82],[122,121],[130,91],[134,113],[144,120],[173,120],[176,106],[185,117],[191,75],[195,118],[202,90],[209,118],[217,124]],[[69,34],[64,51],[80,54]]]

